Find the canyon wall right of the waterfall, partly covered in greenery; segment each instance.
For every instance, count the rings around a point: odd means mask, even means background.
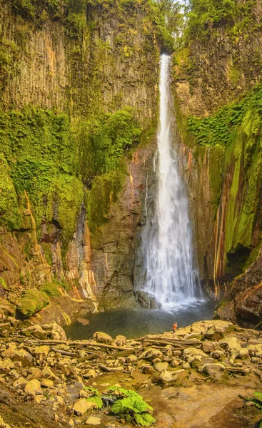
[[[226,287],[217,316],[256,323],[262,310],[261,2],[237,1],[233,13],[193,27],[173,56],[173,94],[201,279],[209,292],[213,283],[215,295]],[[238,304],[244,307],[245,293],[258,302],[249,311]]]

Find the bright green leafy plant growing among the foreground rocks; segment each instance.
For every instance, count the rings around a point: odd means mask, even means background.
[[[149,406],[143,397],[131,389],[121,387],[110,387],[106,394],[100,394],[97,389],[86,387],[92,395],[87,400],[95,402],[96,407],[111,407],[111,413],[116,417],[126,419],[143,427],[149,427],[156,422],[156,419],[149,412],[153,408]]]

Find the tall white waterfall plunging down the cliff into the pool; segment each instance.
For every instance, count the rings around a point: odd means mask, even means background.
[[[170,56],[160,60],[160,111],[156,176],[158,188],[153,218],[147,220],[142,235],[146,284],[143,290],[162,307],[187,305],[196,300],[197,275],[193,270],[191,226],[188,200],[178,174],[176,152],[172,148]]]

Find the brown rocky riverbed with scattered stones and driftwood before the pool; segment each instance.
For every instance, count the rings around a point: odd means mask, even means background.
[[[5,317],[0,336],[1,428],[133,426],[96,409],[88,387],[138,392],[158,428],[252,428],[262,417],[245,401],[262,390],[262,333],[231,322],[195,322],[175,337],[71,341],[59,325]]]

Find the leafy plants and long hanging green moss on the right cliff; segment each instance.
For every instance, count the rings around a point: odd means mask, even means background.
[[[259,85],[241,101],[221,108],[213,116],[188,119],[188,129],[196,146],[211,148],[211,154],[218,148],[222,156],[225,153],[222,159],[223,170],[227,174],[223,192],[228,195],[225,257],[226,270],[233,275],[242,272],[248,263],[255,260],[262,238],[259,216],[262,190],[261,100],[262,86]],[[210,164],[213,164],[211,158]],[[221,170],[219,158],[216,165],[220,165]],[[211,188],[219,198],[221,178],[216,177],[218,168],[210,169]],[[253,239],[255,228],[256,240]]]

